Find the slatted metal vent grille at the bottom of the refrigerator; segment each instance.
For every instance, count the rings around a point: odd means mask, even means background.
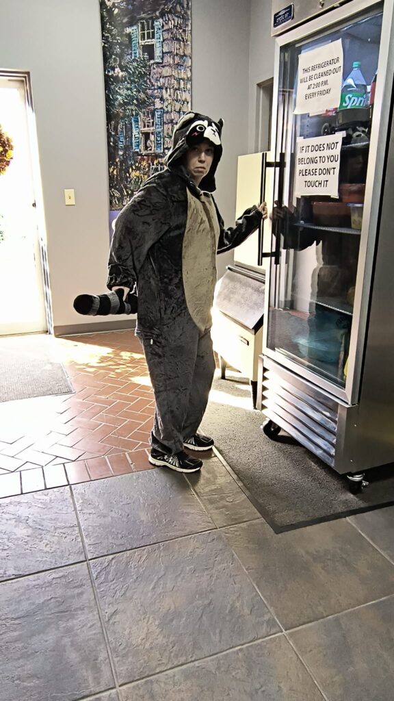
[[[327,465],[334,466],[338,404],[292,373],[264,369],[263,411]]]

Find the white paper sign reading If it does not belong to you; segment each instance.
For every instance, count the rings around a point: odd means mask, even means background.
[[[338,197],[339,163],[346,132],[297,139],[294,193]]]

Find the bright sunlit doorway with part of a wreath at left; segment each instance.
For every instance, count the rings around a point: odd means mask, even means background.
[[[32,116],[27,76],[0,73],[0,336],[48,330]]]

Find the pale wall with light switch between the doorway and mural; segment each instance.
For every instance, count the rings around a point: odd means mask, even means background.
[[[104,292],[107,142],[98,0],[1,0],[0,67],[28,70],[41,162],[54,325],[95,323],[76,294]],[[64,205],[74,188],[76,206]]]

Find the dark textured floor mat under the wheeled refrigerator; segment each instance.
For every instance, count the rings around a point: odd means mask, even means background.
[[[394,504],[394,465],[367,472],[369,486],[351,494],[346,477],[292,437],[267,438],[248,383],[228,374],[231,379],[215,377],[202,429],[215,438],[233,477],[276,533]]]

